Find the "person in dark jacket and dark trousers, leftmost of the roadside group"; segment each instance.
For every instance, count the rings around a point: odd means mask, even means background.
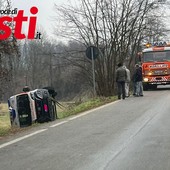
[[[119,63],[117,66],[116,82],[118,87],[118,99],[121,99],[121,97],[125,99],[125,81],[127,79],[127,73],[122,63]]]

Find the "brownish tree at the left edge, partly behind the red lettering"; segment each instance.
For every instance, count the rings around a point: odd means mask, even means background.
[[[0,9],[11,9],[10,0],[0,0]],[[13,29],[13,23],[6,23]],[[4,32],[0,30],[0,34]],[[13,61],[19,56],[17,41],[13,34],[8,39],[0,40],[0,100],[3,100],[7,89],[11,89]],[[9,92],[10,90],[8,90]]]

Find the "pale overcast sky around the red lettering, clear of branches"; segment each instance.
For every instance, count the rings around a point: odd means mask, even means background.
[[[69,4],[73,0],[11,0],[12,7],[18,10],[24,10],[24,15],[29,16],[30,8],[36,6],[38,8],[37,26],[42,27],[47,35],[52,36],[53,21],[52,17],[55,16],[54,3],[57,5]],[[27,24],[23,25],[23,31],[27,31]],[[37,30],[38,31],[38,30]]]

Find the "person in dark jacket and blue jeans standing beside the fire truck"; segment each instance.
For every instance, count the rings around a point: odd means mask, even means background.
[[[143,96],[143,85],[142,85],[142,67],[139,64],[135,65],[135,82],[136,82],[136,95],[135,96]]]

